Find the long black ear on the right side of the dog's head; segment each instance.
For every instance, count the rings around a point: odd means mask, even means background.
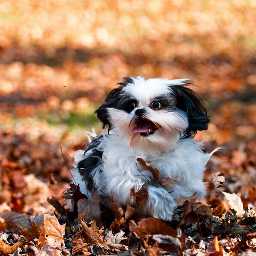
[[[188,85],[189,83],[187,83]],[[188,116],[188,129],[186,132],[206,130],[210,119],[202,99],[191,89],[181,85],[170,87],[177,99],[176,107]]]

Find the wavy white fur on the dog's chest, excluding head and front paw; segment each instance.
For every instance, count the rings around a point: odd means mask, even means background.
[[[133,203],[129,197],[131,188],[138,191],[143,184],[153,182],[152,173],[140,165],[137,158],[157,167],[161,178],[178,180],[171,187],[165,187],[174,199],[192,196],[195,191],[197,197],[204,196],[203,172],[210,155],[204,154],[200,150],[200,143],[192,139],[179,140],[176,148],[165,154],[148,156],[136,154],[112,133],[103,136],[97,148],[102,151],[102,159],[91,170],[92,180],[98,191],[103,195],[114,196],[121,204]],[[80,189],[86,193],[84,181]]]

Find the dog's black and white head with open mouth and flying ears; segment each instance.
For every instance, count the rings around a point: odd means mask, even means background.
[[[119,84],[95,113],[103,128],[118,133],[138,153],[169,151],[182,136],[208,127],[202,100],[185,87],[188,79],[127,77]]]

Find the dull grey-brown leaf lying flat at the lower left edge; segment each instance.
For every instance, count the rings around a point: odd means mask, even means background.
[[[29,217],[23,214],[19,214],[17,212],[4,211],[1,213],[1,217],[5,219],[7,225],[13,231],[17,231],[21,228],[29,229],[31,226],[31,222]]]

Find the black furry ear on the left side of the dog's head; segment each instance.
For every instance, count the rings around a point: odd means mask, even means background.
[[[123,90],[123,87],[127,86],[128,83],[133,83],[133,79],[131,77],[125,77],[123,82],[120,82],[121,86],[110,91],[109,95],[106,97],[105,101],[102,105],[95,111],[98,119],[102,122],[102,128],[105,129],[108,127],[108,131],[111,129],[111,123],[109,120],[109,116],[107,113],[107,108],[117,108],[120,102],[120,93]]]

